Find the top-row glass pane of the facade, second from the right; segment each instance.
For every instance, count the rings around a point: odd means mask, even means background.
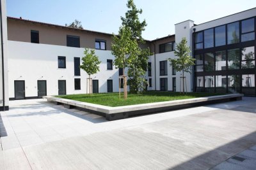
[[[228,44],[239,43],[239,22],[227,25]]]

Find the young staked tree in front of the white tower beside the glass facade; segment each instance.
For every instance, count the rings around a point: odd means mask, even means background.
[[[179,44],[177,44],[174,55],[177,56],[177,59],[169,58],[172,66],[176,71],[182,71],[182,87],[183,87],[183,94],[184,94],[184,72],[190,73],[191,66],[195,65],[195,59],[190,56],[190,48],[187,46],[186,38],[182,38]]]

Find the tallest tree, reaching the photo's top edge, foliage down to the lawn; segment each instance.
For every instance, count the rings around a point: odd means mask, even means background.
[[[138,10],[133,0],[128,0],[127,8],[129,10],[125,13],[125,17],[121,17],[122,25],[131,29],[131,38],[137,42],[137,47],[132,53],[131,64],[128,69],[129,80],[127,81],[131,93],[140,93],[147,88],[147,81],[145,81],[145,73],[147,71],[147,61],[150,55],[149,49],[141,49],[140,44],[145,43],[141,37],[141,32],[145,30],[147,23],[145,20],[140,22],[138,15],[142,10]]]

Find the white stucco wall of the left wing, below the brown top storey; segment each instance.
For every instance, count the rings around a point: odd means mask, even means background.
[[[47,95],[58,95],[58,80],[66,80],[67,94],[86,93],[88,75],[74,76],[74,57],[83,57],[84,48],[8,41],[9,96],[14,95],[14,80],[25,80],[26,97],[37,96],[37,80],[47,80]],[[113,80],[113,92],[118,92],[118,69],[107,69],[107,59],[114,60],[108,50],[95,50],[101,60],[100,71],[93,74],[99,80],[99,92],[107,92],[107,80]],[[66,57],[66,68],[58,68],[58,56]],[[81,60],[82,62],[82,60]],[[81,78],[81,90],[74,90],[74,78]]]

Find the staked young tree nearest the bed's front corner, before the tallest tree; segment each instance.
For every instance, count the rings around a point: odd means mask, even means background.
[[[119,28],[118,36],[113,35],[113,44],[111,46],[112,54],[115,56],[114,65],[123,69],[124,76],[124,99],[127,99],[127,82],[125,68],[131,64],[134,52],[138,45],[131,36],[131,29],[126,26]]]

